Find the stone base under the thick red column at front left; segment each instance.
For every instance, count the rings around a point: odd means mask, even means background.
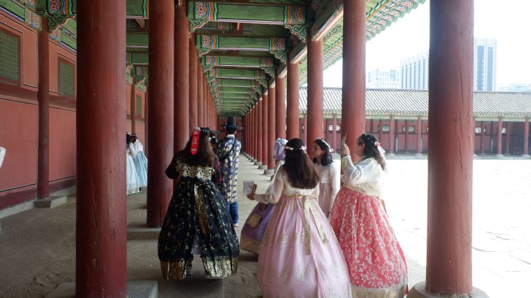
[[[156,281],[127,281],[128,298],[158,298]],[[46,298],[75,298],[75,282],[62,283]]]

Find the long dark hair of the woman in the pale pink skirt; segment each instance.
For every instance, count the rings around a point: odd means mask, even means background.
[[[319,183],[319,173],[310,158],[301,150],[301,139],[290,139],[286,143],[286,163],[282,166],[288,181],[295,188],[311,189]]]

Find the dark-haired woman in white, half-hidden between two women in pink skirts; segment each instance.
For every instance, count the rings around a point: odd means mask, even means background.
[[[332,159],[334,150],[325,139],[318,138],[313,142],[313,163],[319,172],[319,207],[328,217],[332,210],[335,196],[339,192],[339,166]]]

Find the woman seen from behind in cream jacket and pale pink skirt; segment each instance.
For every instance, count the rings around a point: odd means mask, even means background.
[[[319,175],[300,139],[286,144],[286,163],[263,195],[277,203],[261,244],[258,281],[263,297],[351,297],[344,257],[319,208]]]

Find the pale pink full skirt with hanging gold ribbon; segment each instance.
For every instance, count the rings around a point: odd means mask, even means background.
[[[280,198],[263,237],[258,281],[265,298],[351,297],[344,257],[316,198]]]

